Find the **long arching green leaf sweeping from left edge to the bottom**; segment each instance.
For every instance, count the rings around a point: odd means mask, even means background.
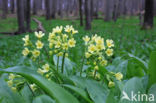
[[[16,66],[8,69],[0,69],[0,72],[16,73],[25,77],[27,80],[38,85],[49,96],[56,99],[58,103],[79,103],[73,95],[60,87],[58,84],[53,81],[48,81],[46,78],[37,74],[36,71],[29,68]]]

